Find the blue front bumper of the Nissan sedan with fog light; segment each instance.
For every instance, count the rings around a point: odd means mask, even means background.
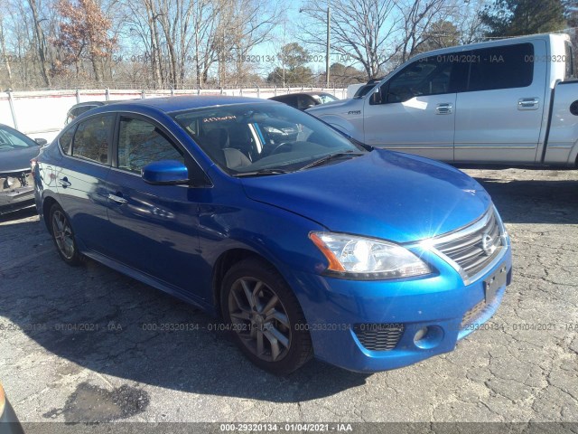
[[[511,281],[509,241],[499,260],[468,285],[439,256],[429,252],[423,258],[437,270],[431,277],[396,281],[296,278],[294,284],[301,287],[298,297],[307,297],[302,307],[315,356],[350,371],[378,372],[448,353],[496,312]],[[507,282],[486,302],[484,281],[500,269],[508,273]],[[424,327],[428,327],[426,335],[415,339]]]

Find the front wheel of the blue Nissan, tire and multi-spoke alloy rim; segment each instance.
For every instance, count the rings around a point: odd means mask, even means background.
[[[312,342],[293,291],[274,267],[245,259],[228,270],[221,311],[233,340],[251,362],[277,375],[312,357]]]

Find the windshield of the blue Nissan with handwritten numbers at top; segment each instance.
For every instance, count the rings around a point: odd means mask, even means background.
[[[317,118],[278,103],[192,109],[173,114],[229,175],[275,175],[367,151]]]

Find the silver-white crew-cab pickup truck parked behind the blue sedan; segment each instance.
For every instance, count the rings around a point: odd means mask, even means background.
[[[447,162],[578,163],[578,80],[566,34],[424,52],[365,97],[307,111],[368,145]]]

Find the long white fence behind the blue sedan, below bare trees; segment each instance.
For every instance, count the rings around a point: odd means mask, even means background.
[[[182,95],[228,95],[271,98],[303,91],[325,91],[339,99],[345,89],[322,88],[253,88],[225,90],[40,90],[0,93],[0,124],[9,125],[29,135],[51,141],[64,127],[70,107],[79,102],[119,99],[178,97]]]

